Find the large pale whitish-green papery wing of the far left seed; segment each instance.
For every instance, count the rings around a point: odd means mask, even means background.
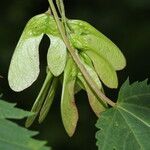
[[[9,67],[8,81],[12,90],[20,92],[37,79],[40,72],[38,48],[42,37],[19,41]]]

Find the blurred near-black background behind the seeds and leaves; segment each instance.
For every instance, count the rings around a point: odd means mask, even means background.
[[[120,85],[129,76],[130,81],[142,81],[150,77],[150,0],[66,0],[69,18],[88,21],[114,41],[127,59],[127,67],[118,73]],[[15,93],[7,83],[11,56],[26,22],[36,14],[45,12],[47,0],[5,0],[0,3],[0,92],[3,99],[17,102],[17,106],[30,110],[45,76],[45,38],[40,48],[41,74],[30,88]],[[38,138],[48,141],[54,150],[95,150],[96,117],[89,107],[84,92],[76,96],[80,119],[73,138],[63,128],[59,102],[60,91],[43,124],[35,123],[31,129],[39,130]],[[117,90],[106,89],[106,94],[117,99]],[[111,138],[111,137],[110,137]]]

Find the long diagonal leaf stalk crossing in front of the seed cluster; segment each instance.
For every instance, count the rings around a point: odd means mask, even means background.
[[[55,6],[53,4],[53,0],[48,0],[51,10],[53,12],[54,18],[56,20],[58,29],[60,31],[60,34],[62,36],[62,39],[64,41],[64,43],[66,44],[66,47],[68,48],[68,51],[70,52],[73,60],[75,61],[76,65],[78,66],[78,68],[80,69],[81,73],[83,74],[86,82],[90,85],[90,87],[92,88],[92,90],[96,93],[96,95],[105,103],[108,103],[110,106],[114,107],[116,104],[111,101],[108,97],[106,97],[98,88],[98,86],[95,84],[95,82],[93,81],[93,79],[91,78],[91,76],[89,75],[89,73],[87,72],[86,68],[84,67],[84,65],[82,64],[82,62],[80,61],[80,57],[79,55],[76,53],[76,50],[70,45],[70,42],[65,34],[65,32],[62,30],[62,23],[60,22],[59,18],[58,18],[58,14],[57,11],[55,9]]]

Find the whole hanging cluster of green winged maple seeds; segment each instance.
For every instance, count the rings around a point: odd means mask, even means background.
[[[119,48],[105,35],[89,23],[68,20],[68,39],[79,55],[93,82],[102,90],[102,83],[109,88],[117,88],[116,71],[126,66],[126,60]],[[38,78],[39,45],[44,35],[50,39],[47,53],[47,76],[32,107],[35,115],[26,121],[29,127],[39,114],[41,123],[54,100],[59,80],[63,79],[61,96],[61,116],[66,132],[72,136],[78,121],[78,110],[74,95],[85,90],[91,108],[97,116],[107,108],[87,84],[82,73],[67,51],[55,19],[49,13],[33,17],[26,25],[14,51],[8,74],[10,87],[20,92],[31,86]]]

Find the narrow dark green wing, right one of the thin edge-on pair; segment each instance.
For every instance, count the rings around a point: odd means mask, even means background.
[[[45,102],[40,110],[40,116],[39,116],[39,123],[43,122],[45,117],[47,116],[49,109],[53,103],[56,88],[57,88],[58,79],[55,78],[52,82],[52,85],[50,87],[49,93],[45,99]]]

